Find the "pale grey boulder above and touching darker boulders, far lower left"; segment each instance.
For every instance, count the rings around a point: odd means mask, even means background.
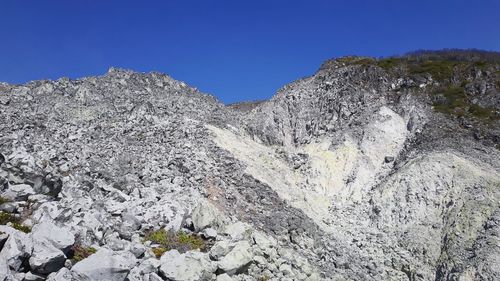
[[[32,229],[32,237],[33,240],[47,240],[64,253],[68,253],[75,244],[75,236],[69,228],[58,227],[51,221],[43,221],[35,225]]]

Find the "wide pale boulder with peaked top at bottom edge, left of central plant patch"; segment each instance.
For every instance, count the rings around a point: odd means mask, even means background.
[[[102,248],[76,263],[71,272],[76,280],[123,281],[135,264],[134,255],[128,251],[113,252]]]

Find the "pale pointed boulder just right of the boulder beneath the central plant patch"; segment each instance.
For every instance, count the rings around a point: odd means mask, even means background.
[[[253,260],[250,243],[240,241],[234,244],[233,249],[218,263],[219,269],[228,275],[234,275],[245,271]]]

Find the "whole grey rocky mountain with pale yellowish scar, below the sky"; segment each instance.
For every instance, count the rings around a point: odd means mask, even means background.
[[[481,51],[1,83],[0,280],[500,280],[499,119]]]

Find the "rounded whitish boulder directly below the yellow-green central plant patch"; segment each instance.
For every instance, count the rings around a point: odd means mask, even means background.
[[[171,250],[160,259],[160,273],[172,281],[210,280],[217,269],[206,253]]]

